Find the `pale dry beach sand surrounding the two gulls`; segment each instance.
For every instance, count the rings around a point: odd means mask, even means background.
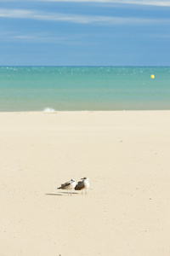
[[[1,256],[170,255],[170,111],[0,113]],[[88,176],[88,195],[57,190]]]

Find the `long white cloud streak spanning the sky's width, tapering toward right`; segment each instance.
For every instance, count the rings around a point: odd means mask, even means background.
[[[31,19],[31,20],[49,20],[49,21],[66,21],[82,24],[100,24],[100,25],[121,25],[121,24],[148,24],[156,22],[169,22],[170,20],[154,20],[142,18],[124,18],[111,16],[97,16],[97,15],[67,15],[59,13],[44,13],[31,11],[26,9],[0,9],[0,18],[13,19]]]

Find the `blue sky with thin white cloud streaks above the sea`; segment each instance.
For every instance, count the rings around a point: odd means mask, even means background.
[[[170,66],[170,0],[0,0],[0,66]]]

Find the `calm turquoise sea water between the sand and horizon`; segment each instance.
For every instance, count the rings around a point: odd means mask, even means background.
[[[1,112],[45,108],[170,109],[170,67],[0,67]]]

